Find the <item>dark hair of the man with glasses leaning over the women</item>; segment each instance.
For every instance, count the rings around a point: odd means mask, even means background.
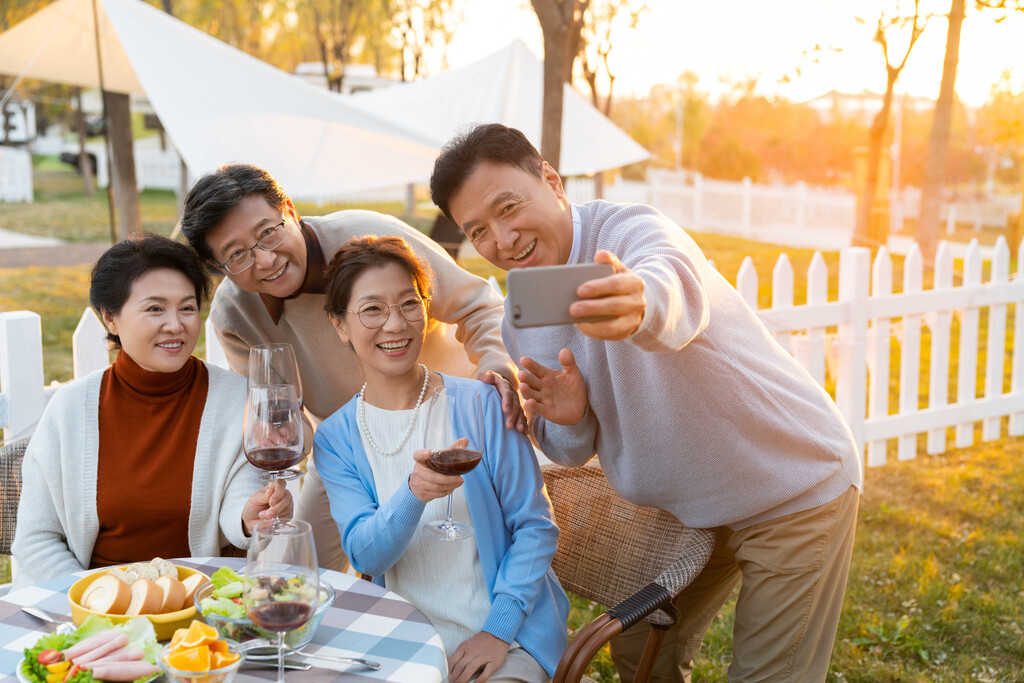
[[[181,211],[181,233],[201,259],[213,260],[206,233],[250,195],[262,195],[282,212],[291,201],[272,175],[252,164],[225,164],[193,184]]]

